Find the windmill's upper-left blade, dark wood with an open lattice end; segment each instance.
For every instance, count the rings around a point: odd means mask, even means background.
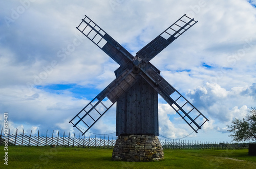
[[[103,31],[88,16],[82,19],[76,29],[89,38],[123,68],[133,61],[133,55],[117,43],[111,36],[106,34],[105,31]]]

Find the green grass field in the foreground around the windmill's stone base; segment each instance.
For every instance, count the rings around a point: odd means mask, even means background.
[[[8,165],[0,146],[0,168],[256,168],[256,156],[248,150],[164,150],[165,160],[112,161],[111,149],[8,147]]]

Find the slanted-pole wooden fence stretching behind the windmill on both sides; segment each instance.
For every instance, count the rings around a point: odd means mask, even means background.
[[[3,134],[3,129],[0,135],[0,145],[6,145],[8,143],[9,146],[65,146],[65,147],[97,147],[103,149],[113,149],[116,136],[108,135],[100,135],[99,137],[91,137],[85,138],[85,136],[80,137],[75,134],[71,137],[71,133],[69,132],[68,136],[65,136],[65,132],[63,135],[60,135],[59,132],[57,136],[54,137],[54,131],[49,135],[48,131],[46,132],[46,136],[39,136],[39,131],[36,136],[32,136],[32,131],[30,135],[25,135],[24,130],[22,134],[18,134],[18,130],[16,129],[15,134]],[[217,142],[200,142],[200,141],[189,141],[189,140],[181,140],[181,139],[165,139],[160,138],[161,145],[163,149],[248,149],[249,143],[217,143]]]

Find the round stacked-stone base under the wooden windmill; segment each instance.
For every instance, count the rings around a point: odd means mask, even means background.
[[[164,159],[158,136],[153,134],[120,135],[112,154],[118,161],[159,161]]]

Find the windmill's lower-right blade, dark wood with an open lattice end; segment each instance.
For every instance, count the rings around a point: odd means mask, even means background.
[[[153,69],[142,70],[141,76],[173,107],[180,117],[197,133],[209,121],[193,104]]]

